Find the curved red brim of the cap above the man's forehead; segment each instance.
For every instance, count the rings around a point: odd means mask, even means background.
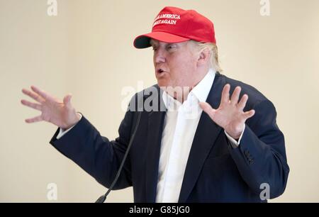
[[[149,48],[150,40],[155,39],[162,41],[164,43],[181,43],[186,40],[190,40],[189,38],[184,38],[178,35],[172,35],[170,33],[164,32],[152,32],[145,35],[140,35],[134,40],[134,47],[135,48]]]

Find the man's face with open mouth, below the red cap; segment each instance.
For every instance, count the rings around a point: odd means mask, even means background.
[[[196,80],[197,58],[194,45],[150,41],[154,50],[154,67],[159,87],[192,87]]]

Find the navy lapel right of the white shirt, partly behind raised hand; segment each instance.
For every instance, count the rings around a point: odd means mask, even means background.
[[[214,109],[218,108],[220,104],[220,96],[223,86],[225,85],[224,83],[223,77],[219,73],[216,73],[213,87],[206,100]],[[181,193],[179,194],[179,202],[186,202],[189,194],[191,194],[191,190],[194,188],[201,172],[201,167],[203,167],[206,157],[211,148],[213,148],[221,130],[222,128],[214,123],[207,113],[203,111],[196,129],[193,144],[191,145],[189,159],[187,160],[183,184],[181,185]]]

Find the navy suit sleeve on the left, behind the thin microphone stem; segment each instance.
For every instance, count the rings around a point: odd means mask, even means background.
[[[119,137],[110,141],[82,116],[74,128],[57,140],[57,129],[50,143],[63,155],[82,167],[104,187],[109,188],[116,177],[123,156],[128,147],[133,122],[133,112],[127,111],[118,129]],[[113,189],[132,186],[130,178],[130,155],[125,160],[121,176]]]

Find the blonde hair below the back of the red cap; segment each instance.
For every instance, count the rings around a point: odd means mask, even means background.
[[[216,72],[223,72],[218,61],[218,48],[214,43],[201,43],[195,40],[191,40],[192,43],[198,48],[198,52],[201,53],[203,50],[209,50],[211,52],[211,58],[209,60],[210,67],[216,70]]]

